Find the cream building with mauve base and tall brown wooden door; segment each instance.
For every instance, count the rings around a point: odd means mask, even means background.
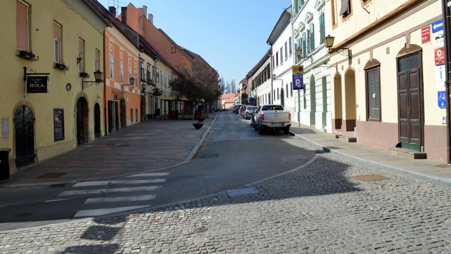
[[[334,131],[370,146],[397,146],[446,161],[444,63],[434,58],[443,31],[431,25],[442,18],[440,1],[328,0],[326,7],[335,37]]]

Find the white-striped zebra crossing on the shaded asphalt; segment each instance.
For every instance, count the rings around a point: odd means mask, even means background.
[[[157,197],[155,193],[161,189],[168,175],[167,172],[141,173],[120,180],[81,182],[61,192],[58,197],[75,199],[90,196],[74,218],[146,208],[152,205],[152,200]]]

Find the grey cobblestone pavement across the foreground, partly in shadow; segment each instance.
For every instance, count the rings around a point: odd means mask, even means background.
[[[361,182],[353,176],[390,179]],[[451,188],[332,154],[184,204],[0,234],[2,253],[451,253]],[[206,231],[205,231],[206,230]]]

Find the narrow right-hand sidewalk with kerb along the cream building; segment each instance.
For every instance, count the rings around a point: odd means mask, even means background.
[[[301,132],[299,134],[298,126],[297,122],[293,122],[290,132],[299,139],[307,140],[320,150],[380,169],[451,186],[451,165],[433,160],[413,160],[390,155],[386,150],[359,143],[348,143],[344,140],[336,139],[330,133],[320,132],[303,124],[301,124]]]

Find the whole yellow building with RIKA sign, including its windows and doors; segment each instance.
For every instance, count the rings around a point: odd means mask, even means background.
[[[107,21],[80,0],[8,0],[0,17],[0,148],[12,149],[11,173],[104,135],[94,71]]]

